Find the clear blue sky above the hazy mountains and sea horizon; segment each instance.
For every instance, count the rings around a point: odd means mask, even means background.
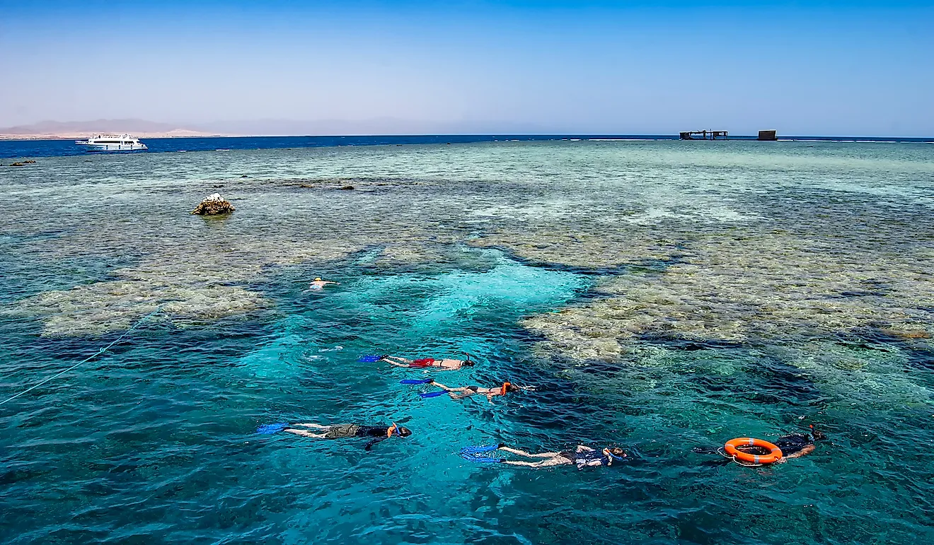
[[[934,135],[934,2],[0,10],[0,126],[393,118],[489,132]]]

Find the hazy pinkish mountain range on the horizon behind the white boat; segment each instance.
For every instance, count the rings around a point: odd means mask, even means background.
[[[489,121],[417,121],[396,118],[256,119],[181,124],[146,119],[93,121],[39,121],[31,125],[0,127],[0,138],[83,138],[97,133],[130,133],[137,137],[171,136],[290,136],[349,134],[530,134],[545,133],[528,123]]]

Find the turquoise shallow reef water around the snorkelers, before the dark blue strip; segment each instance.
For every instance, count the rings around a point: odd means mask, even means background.
[[[164,312],[0,406],[0,540],[930,542],[934,152],[779,144],[3,171],[0,395]],[[187,215],[216,190],[232,217]],[[341,286],[305,290],[317,275]],[[439,380],[537,391],[421,399],[399,384],[420,373],[357,361],[463,351],[480,364]],[[370,453],[253,433],[284,421],[415,433]],[[690,452],[808,424],[831,442],[772,468]],[[618,444],[630,460],[457,455],[498,441]]]

